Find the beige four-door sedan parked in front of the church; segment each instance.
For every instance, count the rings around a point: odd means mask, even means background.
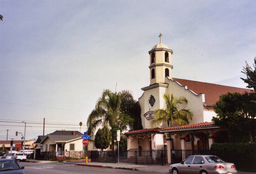
[[[217,156],[212,155],[195,155],[189,156],[181,163],[169,166],[169,172],[173,174],[234,174],[238,173],[233,163],[221,160]]]

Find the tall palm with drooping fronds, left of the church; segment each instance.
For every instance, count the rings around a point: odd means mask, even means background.
[[[93,135],[97,127],[110,127],[112,150],[114,151],[114,138],[119,126],[121,97],[119,93],[104,90],[98,99],[95,109],[87,120],[88,135]]]

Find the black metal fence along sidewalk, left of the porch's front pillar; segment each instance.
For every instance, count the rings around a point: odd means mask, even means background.
[[[91,151],[92,162],[113,162],[118,161],[118,151]],[[166,150],[125,150],[119,151],[119,162],[135,164],[160,164],[167,162]]]

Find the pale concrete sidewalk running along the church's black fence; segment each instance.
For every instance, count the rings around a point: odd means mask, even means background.
[[[126,170],[139,170],[139,171],[149,171],[158,173],[169,173],[169,165],[136,165],[132,163],[99,163],[99,162],[86,162],[76,163],[79,166],[87,167],[103,167],[103,168],[115,168],[115,169],[126,169]],[[239,171],[238,174],[255,174],[254,172],[243,172]]]

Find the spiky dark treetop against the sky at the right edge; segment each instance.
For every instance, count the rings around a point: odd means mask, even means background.
[[[241,79],[248,84],[246,86],[247,88],[253,88],[254,92],[256,92],[256,58],[254,58],[254,63],[252,63],[252,67],[254,68],[254,70],[248,65],[246,61],[245,61],[245,64],[246,66],[243,67],[244,69],[241,72],[244,73],[247,76],[247,78],[246,79],[241,78]]]

